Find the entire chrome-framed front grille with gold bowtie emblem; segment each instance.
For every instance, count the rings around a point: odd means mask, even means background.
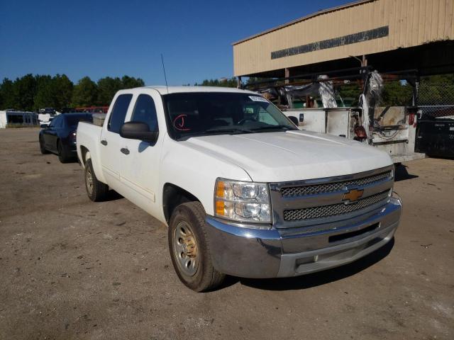
[[[392,166],[348,174],[270,183],[276,228],[328,230],[336,221],[356,218],[387,202],[394,183]]]

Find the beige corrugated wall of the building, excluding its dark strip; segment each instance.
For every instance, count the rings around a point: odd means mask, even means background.
[[[350,45],[272,59],[271,52],[388,26],[389,33]],[[369,0],[301,18],[233,43],[235,76],[454,40],[454,0]]]

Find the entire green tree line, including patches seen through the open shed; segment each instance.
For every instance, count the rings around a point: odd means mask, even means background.
[[[246,84],[270,79],[249,78]],[[237,78],[205,79],[194,86],[236,87]],[[187,84],[188,86],[190,84]],[[0,84],[0,109],[14,108],[24,111],[38,111],[40,108],[69,108],[80,106],[109,106],[116,91],[144,86],[140,78],[123,76],[121,78],[104,77],[97,82],[89,77],[80,79],[77,84],[65,74],[49,75],[26,74],[11,81],[3,79]],[[359,84],[345,84],[338,89],[343,98],[351,98],[350,105],[358,105],[361,93]],[[382,93],[383,106],[405,106],[411,104],[412,88],[406,82],[391,81],[384,84]],[[454,75],[443,74],[422,77],[419,91],[419,104],[453,104]]]

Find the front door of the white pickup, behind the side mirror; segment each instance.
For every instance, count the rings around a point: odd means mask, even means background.
[[[157,120],[157,108],[162,107],[159,94],[149,91],[138,94],[134,99],[133,109],[126,120],[147,123],[150,131],[165,127],[164,122],[160,124]],[[158,213],[156,195],[159,190],[161,144],[162,134],[155,144],[121,138],[121,148],[127,150],[120,157],[121,182],[127,191],[125,197],[152,215]]]

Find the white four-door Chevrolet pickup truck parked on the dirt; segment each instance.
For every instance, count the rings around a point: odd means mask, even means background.
[[[299,130],[240,89],[118,91],[104,125],[79,123],[91,200],[120,193],[168,226],[170,256],[196,291],[226,274],[299,276],[380,248],[399,225],[388,154]]]

